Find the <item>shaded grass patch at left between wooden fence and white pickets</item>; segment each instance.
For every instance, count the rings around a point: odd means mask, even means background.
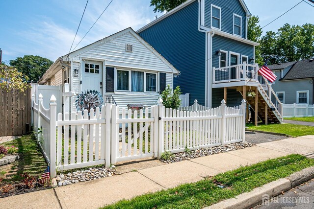
[[[32,135],[26,135],[1,145],[18,147],[20,156],[19,161],[0,167],[0,178],[4,177],[3,181],[19,181],[23,179],[20,174],[25,172],[30,176],[38,177],[47,168],[45,159]]]

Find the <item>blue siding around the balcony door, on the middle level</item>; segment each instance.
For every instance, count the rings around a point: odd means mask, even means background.
[[[219,56],[216,55],[216,50],[218,49],[228,51],[228,65],[230,61],[229,60],[230,51],[240,54],[239,59],[240,63],[242,63],[241,55],[248,56],[249,59],[254,55],[254,47],[252,45],[244,44],[239,41],[214,35],[212,37],[212,67],[214,68],[219,68]]]

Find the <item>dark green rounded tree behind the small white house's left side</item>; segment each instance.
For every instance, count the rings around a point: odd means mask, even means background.
[[[24,57],[10,60],[10,66],[18,69],[32,81],[37,81],[38,77],[41,77],[52,63],[47,58],[34,55],[25,55]]]

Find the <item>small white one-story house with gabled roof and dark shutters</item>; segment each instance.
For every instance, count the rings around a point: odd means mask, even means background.
[[[131,27],[58,58],[39,80],[64,85],[78,94],[97,90],[111,94],[120,107],[157,104],[159,93],[173,87],[176,70]],[[76,96],[71,111],[76,110]]]

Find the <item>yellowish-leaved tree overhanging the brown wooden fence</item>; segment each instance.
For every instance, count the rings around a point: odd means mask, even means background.
[[[24,92],[30,86],[27,84],[28,77],[16,68],[0,65],[0,89],[9,91],[11,89]]]

